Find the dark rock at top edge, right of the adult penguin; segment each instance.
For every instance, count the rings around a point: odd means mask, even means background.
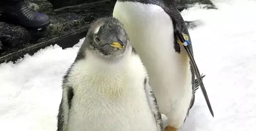
[[[205,8],[213,8],[216,9],[215,5],[211,0],[175,0],[175,3],[178,7],[179,11],[182,11],[195,3],[204,4],[206,5]]]

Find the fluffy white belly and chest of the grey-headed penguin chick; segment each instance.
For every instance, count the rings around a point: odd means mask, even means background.
[[[144,67],[131,59],[113,67],[95,59],[74,66],[68,131],[157,131],[145,96]]]

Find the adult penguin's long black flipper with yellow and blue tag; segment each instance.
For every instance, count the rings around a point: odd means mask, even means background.
[[[175,26],[175,30],[174,31],[175,31],[174,33],[178,37],[178,39],[180,39],[180,41],[182,43],[184,43],[186,40],[183,37],[183,34],[182,34],[182,32],[180,31],[180,29],[179,29],[179,27],[177,25]],[[213,109],[211,107],[211,103],[209,101],[206,89],[204,87],[204,83],[202,82],[202,77],[201,77],[200,72],[198,70],[198,67],[197,67],[197,65],[195,63],[194,56],[192,54],[192,51],[190,50],[190,46],[183,45],[183,47],[185,48],[185,50],[186,50],[186,52],[187,52],[187,54],[189,56],[190,62],[191,62],[192,67],[193,67],[193,69],[195,71],[195,76],[196,76],[197,81],[198,81],[198,83],[199,83],[199,85],[201,87],[201,90],[202,90],[202,93],[204,95],[204,99],[206,100],[207,106],[208,106],[208,108],[209,108],[209,110],[211,112],[211,115],[214,117],[214,113],[213,113]]]

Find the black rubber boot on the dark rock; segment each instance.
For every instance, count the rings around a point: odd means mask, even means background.
[[[29,29],[41,29],[50,24],[50,18],[46,14],[29,9],[25,2],[3,5],[0,8],[1,20],[8,23],[19,24]]]

